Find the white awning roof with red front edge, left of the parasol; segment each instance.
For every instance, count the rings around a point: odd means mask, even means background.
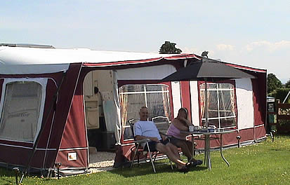
[[[162,59],[197,58],[194,54],[164,55],[90,49],[22,48],[0,46],[0,74],[42,74],[65,71],[72,63],[113,66],[155,62]]]

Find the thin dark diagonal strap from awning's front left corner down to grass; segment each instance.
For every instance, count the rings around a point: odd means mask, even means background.
[[[37,149],[37,144],[39,143],[39,139],[40,139],[40,137],[41,137],[42,132],[44,132],[44,128],[45,128],[46,122],[48,121],[49,115],[51,114],[51,111],[53,110],[53,108],[56,107],[56,106],[55,106],[55,104],[56,104],[55,100],[56,100],[56,98],[58,97],[58,92],[60,91],[60,87],[61,87],[61,85],[62,85],[62,82],[63,82],[64,79],[65,79],[65,76],[67,76],[67,71],[63,71],[63,73],[62,73],[62,79],[61,79],[61,81],[60,81],[60,85],[58,86],[58,89],[56,90],[55,95],[53,95],[53,101],[52,101],[52,103],[51,103],[51,107],[49,107],[49,109],[48,109],[48,115],[47,115],[46,118],[44,119],[44,123],[41,124],[41,128],[40,128],[40,130],[39,130],[39,134],[37,135],[37,139],[35,140],[35,142],[34,142],[34,144],[33,144],[32,153],[31,153],[31,155],[29,156],[29,160],[28,160],[27,165],[25,166],[25,170],[22,172],[22,177],[21,177],[21,179],[20,179],[20,181],[19,181],[19,184],[22,183],[22,180],[23,180],[23,178],[25,177],[25,174],[27,174],[27,170],[28,170],[28,168],[29,168],[29,164],[30,164],[31,161],[32,161],[32,158],[33,158],[33,156],[34,156],[35,151],[37,151],[37,150],[36,150],[36,149]]]

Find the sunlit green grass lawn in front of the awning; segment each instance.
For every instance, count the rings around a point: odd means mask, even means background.
[[[212,170],[205,165],[194,167],[187,174],[171,170],[170,165],[159,165],[154,174],[147,163],[133,168],[82,174],[61,179],[26,177],[23,184],[290,184],[290,136],[277,136],[256,145],[228,149],[223,152],[230,162],[228,167],[219,151],[211,153]],[[204,154],[197,156],[203,159]],[[0,169],[0,184],[15,184],[13,172]]]

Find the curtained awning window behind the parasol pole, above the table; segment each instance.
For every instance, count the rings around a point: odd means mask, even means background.
[[[209,125],[217,128],[236,126],[235,87],[231,83],[208,83],[208,115]],[[202,113],[202,125],[205,125],[204,83],[199,85]]]

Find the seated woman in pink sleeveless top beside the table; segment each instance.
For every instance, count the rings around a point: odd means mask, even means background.
[[[187,109],[180,108],[177,117],[173,119],[166,135],[171,137],[170,142],[172,144],[181,148],[188,162],[192,162],[193,165],[202,165],[202,160],[195,160],[192,157],[192,142],[186,139],[187,134],[180,133],[180,130],[188,131],[189,126],[192,126],[192,123],[187,119],[187,115]]]

